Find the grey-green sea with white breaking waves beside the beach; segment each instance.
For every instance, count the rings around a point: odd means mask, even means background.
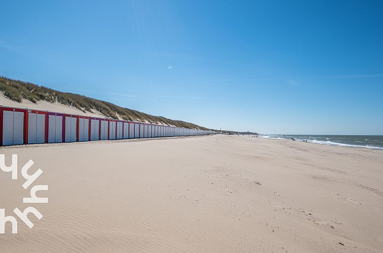
[[[307,140],[310,143],[383,150],[383,135],[260,135],[262,138]]]

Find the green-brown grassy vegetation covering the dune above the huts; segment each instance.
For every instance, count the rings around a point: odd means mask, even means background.
[[[181,128],[207,130],[193,123],[172,120],[162,116],[153,116],[136,110],[123,108],[106,101],[88,98],[79,94],[61,92],[48,87],[1,76],[0,91],[3,92],[7,98],[19,103],[21,103],[22,100],[29,100],[33,103],[37,103],[38,101],[58,102],[63,105],[73,106],[83,112],[98,111],[106,117],[114,119],[120,116],[124,120],[148,121],[155,124],[164,123],[167,125],[175,125]]]

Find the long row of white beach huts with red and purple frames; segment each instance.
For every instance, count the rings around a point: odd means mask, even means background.
[[[0,106],[0,133],[2,146],[215,134],[214,131],[3,106]]]

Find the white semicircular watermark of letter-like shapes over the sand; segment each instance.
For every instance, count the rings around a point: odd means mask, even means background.
[[[33,175],[28,174],[28,169],[34,164],[32,160],[29,160],[21,169],[21,175],[26,180],[22,187],[27,189],[35,180],[43,173],[41,169],[38,169]],[[17,179],[17,154],[12,154],[11,166],[5,165],[5,155],[0,154],[0,169],[4,172],[12,172],[12,179]],[[30,198],[23,198],[23,203],[48,203],[48,198],[39,198],[36,196],[38,191],[48,191],[48,185],[35,185],[30,188]],[[13,212],[28,226],[30,229],[34,226],[30,222],[27,215],[33,213],[38,219],[41,219],[43,215],[35,207],[27,207],[21,212],[17,207]],[[12,224],[12,234],[17,234],[17,219],[14,216],[5,216],[5,209],[0,209],[0,234],[5,234],[5,224],[10,222]]]

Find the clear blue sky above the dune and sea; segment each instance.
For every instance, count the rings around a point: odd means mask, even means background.
[[[383,1],[2,9],[2,76],[212,129],[383,135]]]

